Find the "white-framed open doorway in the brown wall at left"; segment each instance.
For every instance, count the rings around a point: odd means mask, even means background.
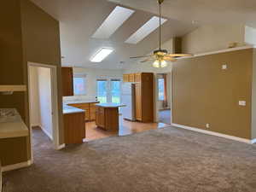
[[[28,63],[28,101],[31,127],[41,131],[49,138],[53,148],[59,148],[58,106],[56,67],[37,63]],[[35,141],[34,137],[34,142]],[[40,138],[38,138],[40,139]]]

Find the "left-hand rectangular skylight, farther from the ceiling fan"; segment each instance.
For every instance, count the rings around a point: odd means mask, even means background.
[[[134,12],[132,9],[116,6],[111,14],[108,15],[108,18],[104,20],[102,26],[92,35],[92,38],[110,38]]]

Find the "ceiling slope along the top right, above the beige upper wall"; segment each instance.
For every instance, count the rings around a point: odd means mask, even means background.
[[[157,13],[156,0],[109,0],[131,8]],[[165,0],[163,15],[199,24],[244,23],[256,26],[255,0]]]

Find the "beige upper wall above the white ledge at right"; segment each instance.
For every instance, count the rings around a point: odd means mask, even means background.
[[[234,42],[245,44],[244,25],[201,26],[183,36],[182,46],[184,53],[197,54],[227,49]]]

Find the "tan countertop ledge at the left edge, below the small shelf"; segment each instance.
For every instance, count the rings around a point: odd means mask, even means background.
[[[28,136],[28,128],[15,108],[0,108],[0,139]]]

